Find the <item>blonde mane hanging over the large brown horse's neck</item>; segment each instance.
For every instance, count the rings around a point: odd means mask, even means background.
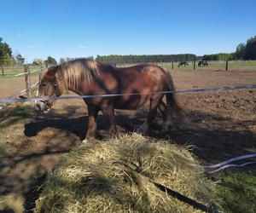
[[[55,77],[61,92],[67,92],[68,84],[74,89],[79,89],[83,81],[92,82],[93,77],[98,76],[98,63],[91,59],[75,59],[49,68],[55,72]]]

